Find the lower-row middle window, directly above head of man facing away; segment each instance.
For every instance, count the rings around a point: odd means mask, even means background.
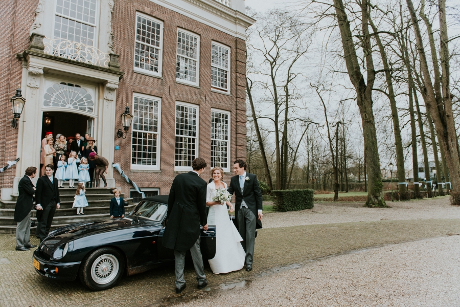
[[[188,168],[198,153],[198,108],[176,104],[175,157],[176,168]]]

